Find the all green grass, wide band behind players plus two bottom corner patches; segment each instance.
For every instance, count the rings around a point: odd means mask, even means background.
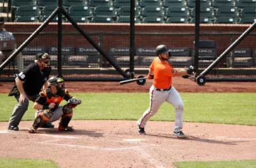
[[[147,93],[74,93],[82,104],[74,110],[73,120],[138,120],[149,106]],[[255,93],[181,93],[185,105],[185,122],[256,125]],[[0,94],[0,121],[8,121],[14,97]],[[65,101],[62,102],[63,105]],[[30,102],[22,120],[34,120],[35,110]],[[174,121],[174,108],[164,103],[155,121]],[[33,165],[37,164],[37,165]],[[45,166],[45,164],[49,164]],[[0,167],[57,167],[45,160],[0,158]],[[256,167],[256,160],[225,162],[175,162],[177,167]]]

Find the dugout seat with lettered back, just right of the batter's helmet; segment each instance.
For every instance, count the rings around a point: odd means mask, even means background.
[[[171,57],[168,62],[174,68],[185,68],[192,65],[192,57],[189,56],[189,48],[188,47],[175,47],[169,48],[171,51]]]

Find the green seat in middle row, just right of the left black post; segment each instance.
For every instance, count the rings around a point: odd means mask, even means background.
[[[92,10],[87,5],[72,5],[69,7],[70,16],[83,16],[84,18],[92,18]]]

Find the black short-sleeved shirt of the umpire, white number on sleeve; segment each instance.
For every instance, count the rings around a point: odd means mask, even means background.
[[[40,70],[36,63],[31,63],[18,74],[18,78],[23,81],[26,94],[38,95],[50,73],[51,67]]]

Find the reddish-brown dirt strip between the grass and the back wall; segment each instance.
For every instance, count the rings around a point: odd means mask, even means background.
[[[136,82],[119,85],[119,82],[89,82],[66,81],[66,88],[70,92],[142,92],[148,93],[152,81],[147,80],[145,85],[139,86]],[[0,93],[8,93],[13,82],[0,82]],[[255,82],[206,82],[204,86],[198,86],[194,80],[174,78],[173,86],[180,92],[256,92]]]

